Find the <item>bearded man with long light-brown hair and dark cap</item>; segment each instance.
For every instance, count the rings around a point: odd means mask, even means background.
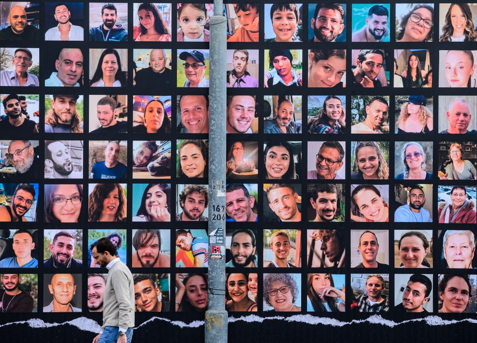
[[[81,117],[76,112],[78,95],[53,95],[51,109],[45,116],[45,133],[82,133]]]

